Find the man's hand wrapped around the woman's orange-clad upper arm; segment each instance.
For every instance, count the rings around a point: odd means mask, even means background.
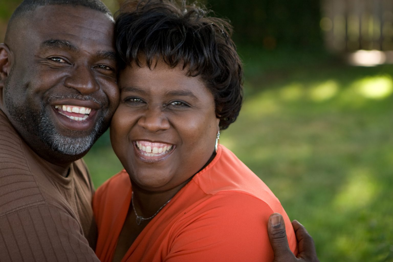
[[[299,243],[299,253],[296,258],[288,246],[285,223],[279,213],[270,215],[268,222],[268,235],[274,251],[274,262],[319,262],[314,240],[305,227],[297,220],[292,222],[296,238]]]

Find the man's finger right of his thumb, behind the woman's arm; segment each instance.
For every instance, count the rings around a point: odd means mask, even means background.
[[[303,258],[305,261],[319,262],[314,240],[307,232],[306,228],[297,220],[292,221],[292,227],[295,230],[296,238],[299,243],[298,258]]]

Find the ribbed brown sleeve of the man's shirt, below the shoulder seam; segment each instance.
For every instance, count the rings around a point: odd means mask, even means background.
[[[0,250],[0,261],[99,261],[77,220],[48,205],[2,215]]]

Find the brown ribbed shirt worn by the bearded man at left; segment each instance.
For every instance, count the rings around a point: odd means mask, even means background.
[[[82,159],[62,177],[24,143],[0,110],[1,262],[99,261],[92,249],[93,192]]]

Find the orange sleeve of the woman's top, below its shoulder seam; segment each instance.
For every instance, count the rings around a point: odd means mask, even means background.
[[[175,230],[165,262],[271,262],[267,222],[274,213],[253,196],[223,192]]]

